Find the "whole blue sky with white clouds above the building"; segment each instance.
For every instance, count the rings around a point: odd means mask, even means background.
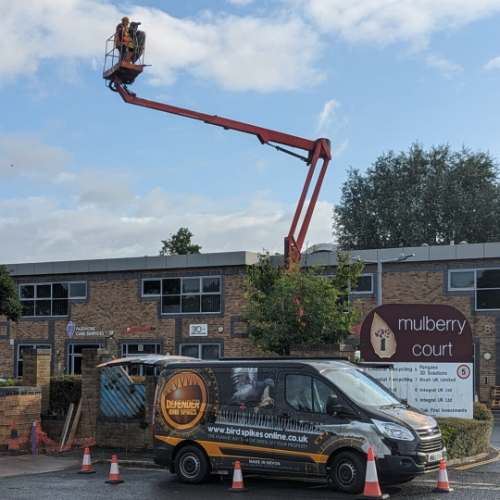
[[[202,253],[283,252],[308,167],[106,88],[124,15],[139,97],[331,140],[307,246],[389,150],[500,159],[500,0],[0,0],[0,264],[155,256],[181,227]]]

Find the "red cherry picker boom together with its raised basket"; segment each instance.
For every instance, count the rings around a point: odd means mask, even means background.
[[[288,262],[290,260],[299,261],[301,259],[301,249],[305,242],[307,230],[309,228],[311,217],[318,200],[319,192],[321,190],[321,185],[325,178],[328,163],[331,160],[330,141],[325,138],[320,138],[312,141],[309,139],[285,134],[283,132],[277,132],[275,130],[270,130],[267,128],[250,125],[248,123],[223,118],[217,115],[208,115],[205,113],[200,113],[198,111],[191,111],[189,109],[179,108],[170,104],[163,104],[160,102],[149,101],[147,99],[137,97],[136,94],[128,89],[127,85],[131,85],[132,83],[134,83],[135,78],[142,73],[144,67],[146,66],[144,64],[145,47],[144,45],[142,47],[139,47],[140,56],[134,62],[121,61],[120,58],[115,54],[113,38],[114,36],[111,36],[108,39],[108,44],[111,42],[112,48],[109,51],[106,50],[107,62],[105,62],[103,78],[108,81],[108,87],[114,92],[118,92],[126,103],[135,104],[136,106],[142,106],[144,108],[155,109],[157,111],[163,111],[165,113],[170,113],[173,115],[184,116],[186,118],[192,118],[194,120],[199,120],[210,125],[222,127],[224,130],[236,130],[238,132],[254,135],[257,137],[261,144],[267,144],[274,147],[278,151],[299,158],[300,160],[304,161],[306,165],[308,165],[309,170],[307,172],[304,187],[300,195],[299,203],[297,204],[297,208],[295,209],[292,225],[290,227],[288,236],[285,237],[285,265],[288,265]],[[143,38],[143,43],[145,43],[145,35]],[[305,151],[307,155],[303,156],[282,146],[292,147]],[[311,200],[305,211],[302,224],[298,231],[298,235],[297,237],[295,237],[299,219],[304,209],[306,196],[311,185],[316,165],[318,163],[318,160],[320,159],[323,161],[323,163],[320,167],[319,174],[316,179],[316,185],[314,186]]]

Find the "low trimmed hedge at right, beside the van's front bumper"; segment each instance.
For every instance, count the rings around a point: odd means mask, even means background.
[[[493,421],[465,418],[436,418],[449,459],[488,453]]]

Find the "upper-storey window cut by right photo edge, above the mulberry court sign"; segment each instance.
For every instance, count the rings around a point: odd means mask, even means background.
[[[476,310],[500,309],[500,269],[450,271],[449,291],[475,291]]]

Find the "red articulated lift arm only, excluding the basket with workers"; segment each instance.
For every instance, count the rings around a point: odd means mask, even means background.
[[[222,127],[224,130],[236,130],[238,132],[255,135],[259,139],[261,144],[268,144],[269,146],[276,148],[278,151],[282,151],[303,160],[309,166],[309,171],[307,173],[306,181],[302,189],[302,194],[300,195],[299,203],[297,205],[297,208],[295,209],[290,232],[285,238],[285,265],[288,265],[290,260],[299,261],[301,259],[300,250],[305,242],[306,233],[309,228],[309,223],[311,222],[311,217],[316,206],[316,202],[318,200],[323,179],[325,178],[326,169],[328,168],[328,163],[331,160],[330,141],[328,139],[322,138],[317,139],[316,141],[311,141],[308,139],[303,139],[301,137],[284,134],[282,132],[276,132],[274,130],[256,127],[254,125],[249,125],[247,123],[238,122],[235,120],[230,120],[217,115],[207,115],[204,113],[198,113],[197,111],[191,111],[188,109],[171,106],[169,104],[162,104],[159,102],[142,99],[140,97],[137,97],[136,94],[130,92],[126,85],[124,85],[124,82],[118,76],[114,79],[114,82],[112,82],[110,88],[117,91],[121,95],[122,99],[128,104],[135,104],[136,106],[143,106],[145,108],[164,111],[165,113],[171,113],[174,115],[184,116],[186,118],[192,118],[194,120],[200,120],[217,127]],[[301,156],[300,154],[297,154],[293,151],[289,151],[281,146],[277,146],[277,144],[301,149],[307,153],[307,156]],[[306,196],[309,191],[311,180],[316,169],[316,164],[319,159],[323,160],[323,164],[321,165],[316,185],[314,186],[314,190],[311,196],[311,201],[305,212],[302,225],[299,229],[297,237],[295,237],[297,225],[304,209]]]

